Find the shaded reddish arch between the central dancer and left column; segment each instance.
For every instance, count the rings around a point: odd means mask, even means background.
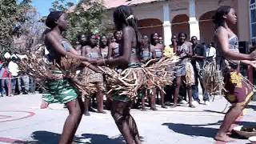
[[[138,20],[138,29],[142,35],[147,35],[157,32],[162,35],[162,22],[156,18],[146,18]]]

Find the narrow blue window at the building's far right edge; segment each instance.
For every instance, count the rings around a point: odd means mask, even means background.
[[[256,38],[256,2],[250,0],[250,39]]]

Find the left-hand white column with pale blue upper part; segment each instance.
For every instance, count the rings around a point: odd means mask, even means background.
[[[166,46],[171,44],[171,25],[170,25],[170,6],[168,2],[165,2],[162,6],[163,13],[163,37],[164,44]]]

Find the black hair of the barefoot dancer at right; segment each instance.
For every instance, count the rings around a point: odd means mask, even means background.
[[[216,27],[224,25],[225,18],[223,18],[223,16],[229,14],[230,9],[231,6],[221,6],[218,8],[213,17]]]

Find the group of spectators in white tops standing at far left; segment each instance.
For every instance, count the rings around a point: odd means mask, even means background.
[[[6,52],[0,58],[1,97],[35,93],[34,79],[19,70],[18,61],[25,57],[25,55]]]

